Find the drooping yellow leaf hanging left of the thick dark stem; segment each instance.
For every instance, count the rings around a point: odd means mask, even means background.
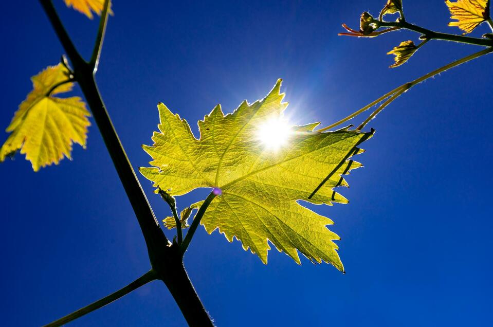
[[[64,155],[70,158],[72,142],[85,148],[90,125],[85,103],[79,97],[52,97],[72,89],[71,82],[61,84],[68,74],[67,68],[58,64],[31,78],[33,90],[7,127],[11,134],[0,149],[0,161],[21,149],[32,169],[38,171],[53,162],[58,164]]]

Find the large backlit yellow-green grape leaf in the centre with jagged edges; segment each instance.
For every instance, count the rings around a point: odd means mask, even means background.
[[[232,114],[224,115],[217,105],[198,122],[199,139],[186,120],[159,103],[160,132],[154,132],[152,147],[143,146],[154,167],[139,170],[171,195],[199,187],[221,189],[201,224],[208,233],[218,229],[230,242],[236,237],[264,263],[270,241],[297,263],[298,249],[313,262],[343,271],[332,242],[340,238],[325,227],[333,222],[298,201],[347,203],[333,188],[347,186],[341,175],[361,167],[349,158],[363,152],[357,146],[373,131],[320,133],[313,131],[319,123],[295,126],[286,146],[272,150],[257,134],[263,123],[283,115],[287,103],[280,87],[281,80],[263,100],[244,101]]]

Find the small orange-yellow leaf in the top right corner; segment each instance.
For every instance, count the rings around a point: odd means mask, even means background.
[[[450,17],[457,22],[450,22],[448,26],[457,26],[464,31],[463,34],[472,32],[489,18],[489,0],[458,0],[451,2],[446,0]]]

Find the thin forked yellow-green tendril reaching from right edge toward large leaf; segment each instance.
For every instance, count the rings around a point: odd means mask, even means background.
[[[408,82],[408,83],[405,83],[403,85],[400,85],[400,86],[394,88],[393,90],[391,90],[390,92],[388,92],[388,93],[384,94],[383,96],[379,97],[375,101],[373,101],[373,102],[367,104],[366,106],[362,107],[360,110],[352,113],[348,117],[345,117],[345,118],[343,118],[343,119],[341,119],[341,120],[339,120],[339,121],[337,121],[337,122],[333,123],[332,125],[329,125],[329,126],[327,126],[325,128],[319,129],[319,130],[317,130],[317,132],[324,132],[324,131],[330,130],[330,129],[334,128],[335,126],[338,126],[338,125],[340,125],[340,124],[342,124],[342,123],[344,123],[344,122],[346,122],[346,121],[348,121],[348,120],[350,120],[350,119],[358,116],[362,112],[367,111],[369,108],[371,108],[372,106],[374,106],[378,102],[380,102],[380,101],[382,101],[384,99],[387,99],[390,96],[394,96],[397,93],[400,96],[402,93],[406,92],[406,90],[410,89],[411,87],[413,87],[416,84],[419,84],[419,83],[421,83],[421,82],[429,79],[430,77],[433,77],[433,76],[435,76],[437,74],[440,74],[441,72],[443,72],[443,71],[445,71],[447,69],[450,69],[450,68],[455,67],[455,66],[459,66],[460,64],[463,64],[463,63],[468,62],[470,60],[479,58],[479,57],[484,56],[485,54],[488,54],[488,53],[491,53],[491,52],[493,52],[493,48],[490,47],[490,48],[481,50],[479,52],[472,53],[469,56],[466,56],[464,58],[455,60],[455,61],[453,61],[453,62],[451,62],[451,63],[449,63],[449,64],[447,64],[447,65],[445,65],[443,67],[437,68],[437,69],[429,72],[428,74],[425,74],[422,77],[419,77],[419,78],[417,78],[417,79],[415,79],[415,80],[413,80],[411,82]],[[403,91],[403,92],[400,92],[400,91]],[[397,97],[395,97],[395,98],[397,98]],[[392,98],[392,101],[394,101],[395,98]],[[390,102],[392,102],[392,101],[390,101]],[[387,106],[390,102],[387,102],[386,101],[386,105],[385,106]],[[378,112],[380,112],[383,108],[385,108],[385,106],[379,106],[377,108],[377,110],[376,110],[376,114],[378,114]],[[370,115],[370,117],[374,117],[376,114],[374,112],[374,113],[372,113]],[[363,122],[360,126],[358,126],[358,130],[360,130],[361,128],[363,128],[364,125],[366,125],[368,123],[369,120],[368,121],[367,120],[365,120],[365,122]]]

